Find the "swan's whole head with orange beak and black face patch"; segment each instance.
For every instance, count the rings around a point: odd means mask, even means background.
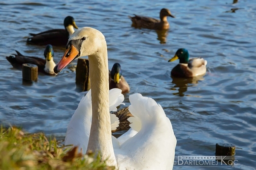
[[[54,67],[54,72],[60,73],[74,59],[97,55],[106,47],[105,37],[100,31],[91,27],[80,28],[68,39],[66,51],[61,61]]]

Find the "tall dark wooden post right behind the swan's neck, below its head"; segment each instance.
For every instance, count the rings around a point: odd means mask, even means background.
[[[89,77],[89,60],[78,58],[76,65],[75,83],[76,86],[82,89],[82,91],[88,91],[91,89]]]

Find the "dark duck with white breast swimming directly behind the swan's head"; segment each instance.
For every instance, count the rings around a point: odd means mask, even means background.
[[[70,35],[73,34],[74,28],[78,28],[75,24],[73,17],[67,16],[64,19],[65,29],[51,29],[48,31],[40,32],[38,34],[32,34],[32,37],[27,39],[28,44],[33,45],[47,45],[53,46],[65,46]]]

